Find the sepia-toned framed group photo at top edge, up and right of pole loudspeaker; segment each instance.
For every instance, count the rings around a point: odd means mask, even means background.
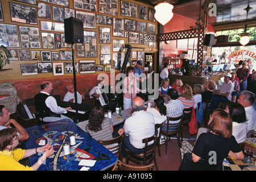
[[[99,0],[99,12],[113,16],[118,15],[118,0]]]

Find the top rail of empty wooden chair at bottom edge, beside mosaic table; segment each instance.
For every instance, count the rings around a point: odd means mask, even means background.
[[[154,171],[154,164],[150,165],[127,165],[118,160],[112,171]]]

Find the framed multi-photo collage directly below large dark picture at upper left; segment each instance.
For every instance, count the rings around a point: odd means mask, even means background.
[[[41,48],[38,27],[19,26],[19,35],[22,48]]]

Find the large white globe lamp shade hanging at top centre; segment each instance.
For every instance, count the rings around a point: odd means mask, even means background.
[[[163,2],[155,6],[155,19],[163,25],[166,24],[172,19],[172,16],[174,16],[172,13],[173,8],[174,6],[167,2]]]

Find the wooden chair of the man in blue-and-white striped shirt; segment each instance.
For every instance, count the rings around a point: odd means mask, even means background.
[[[181,142],[180,142],[180,127],[181,127],[181,121],[183,118],[183,114],[180,117],[172,118],[167,117],[167,130],[161,130],[162,134],[164,134],[164,139],[166,139],[166,154],[167,154],[167,146],[168,146],[168,140],[170,142],[170,135],[176,135],[177,136],[177,142],[179,147],[181,148]],[[180,121],[179,121],[180,120]],[[179,121],[177,123],[170,123],[171,121]],[[169,131],[169,129],[174,129],[174,131]]]

